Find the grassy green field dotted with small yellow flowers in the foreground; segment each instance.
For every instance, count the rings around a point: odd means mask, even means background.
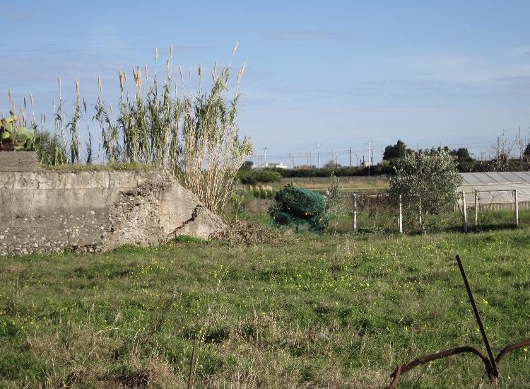
[[[0,387],[186,387],[197,339],[196,388],[381,388],[396,364],[484,348],[457,253],[495,352],[529,338],[529,249],[520,228],[4,257]],[[529,371],[530,353],[512,352],[500,387],[528,386]],[[471,354],[401,382],[488,383]]]

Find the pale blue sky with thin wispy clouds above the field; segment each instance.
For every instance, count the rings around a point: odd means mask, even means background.
[[[119,69],[154,63],[242,82],[241,133],[269,162],[312,163],[346,150],[375,161],[397,139],[410,147],[468,146],[480,156],[503,130],[530,127],[529,1],[4,1],[0,111],[7,89],[52,115],[57,76],[95,103],[98,76],[117,98]],[[230,52],[240,45],[234,59]],[[163,66],[160,66],[160,70]],[[192,82],[193,83],[193,82]],[[51,121],[48,120],[49,124]],[[90,120],[86,120],[88,124]]]

